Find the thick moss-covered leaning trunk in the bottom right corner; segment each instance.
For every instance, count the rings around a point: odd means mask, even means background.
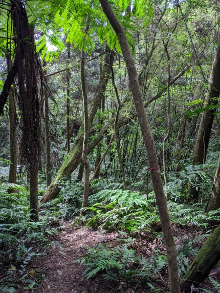
[[[190,286],[198,287],[209,275],[212,268],[220,260],[220,226],[207,238],[185,276],[180,286],[181,291],[190,293]]]

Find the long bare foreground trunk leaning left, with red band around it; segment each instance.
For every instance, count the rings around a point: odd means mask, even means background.
[[[176,261],[176,246],[175,246],[173,232],[171,228],[171,221],[170,221],[170,217],[169,217],[169,213],[168,213],[168,209],[166,205],[166,199],[164,196],[162,180],[160,177],[154,138],[151,134],[148,119],[146,116],[146,111],[145,111],[143,99],[141,96],[140,85],[138,82],[138,76],[137,76],[135,64],[133,61],[132,53],[131,53],[129,43],[127,41],[127,38],[124,32],[123,26],[118,21],[117,17],[112,11],[109,1],[108,0],[99,0],[99,1],[102,5],[105,15],[110,21],[110,24],[113,27],[118,37],[122,54],[128,69],[130,88],[132,90],[133,101],[134,101],[138,121],[139,121],[142,135],[143,135],[143,142],[148,154],[149,165],[152,171],[152,183],[154,187],[156,202],[158,205],[158,210],[159,210],[159,215],[161,220],[161,226],[162,226],[164,240],[165,240],[166,249],[167,249],[168,272],[169,272],[171,292],[180,293],[178,267],[177,267],[177,261]]]

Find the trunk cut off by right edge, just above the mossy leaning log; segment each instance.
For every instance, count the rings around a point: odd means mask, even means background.
[[[209,196],[209,200],[206,207],[206,212],[211,210],[216,210],[220,208],[220,156],[218,165],[216,168],[216,174],[213,182],[212,191]],[[216,223],[211,223],[211,225],[215,225]]]

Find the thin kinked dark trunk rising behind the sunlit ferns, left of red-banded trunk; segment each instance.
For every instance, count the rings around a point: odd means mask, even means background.
[[[120,98],[118,95],[117,86],[114,82],[114,70],[113,70],[113,65],[112,65],[111,61],[110,61],[110,66],[111,66],[111,80],[112,80],[112,84],[113,84],[115,95],[116,95],[117,102],[118,102],[118,109],[117,109],[117,113],[116,113],[115,121],[114,121],[114,132],[115,132],[115,140],[116,140],[116,147],[117,147],[117,154],[118,154],[118,162],[119,162],[122,181],[124,184],[124,189],[127,190],[128,188],[127,188],[127,183],[125,180],[125,173],[124,173],[123,165],[122,165],[121,150],[120,150],[120,137],[119,137],[119,131],[118,131],[118,116],[119,116],[119,113],[121,110],[121,101],[120,101]]]

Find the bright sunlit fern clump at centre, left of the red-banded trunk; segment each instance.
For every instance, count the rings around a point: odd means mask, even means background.
[[[154,198],[130,190],[102,190],[89,197],[85,223],[102,230],[151,230],[159,222]]]

